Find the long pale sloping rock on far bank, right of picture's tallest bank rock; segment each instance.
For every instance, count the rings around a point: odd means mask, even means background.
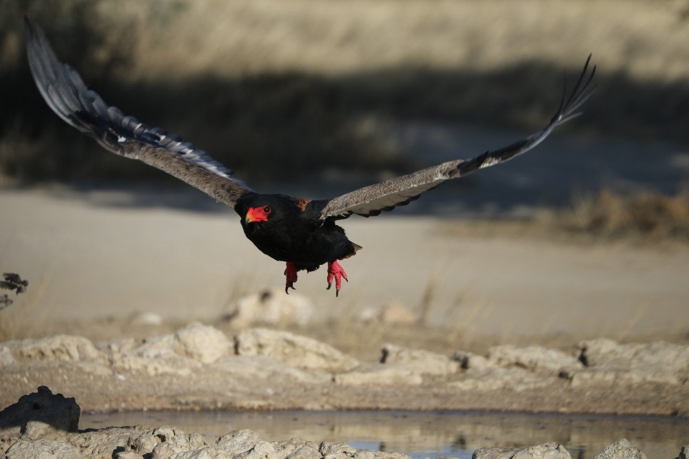
[[[359,362],[315,339],[267,328],[250,328],[235,337],[239,355],[265,355],[294,367],[325,372],[347,372]]]

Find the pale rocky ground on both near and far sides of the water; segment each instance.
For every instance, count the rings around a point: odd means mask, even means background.
[[[8,458],[48,452],[108,458],[406,457],[329,442],[265,442],[248,430],[214,441],[171,426],[78,431],[81,410],[493,409],[689,416],[689,347],[661,341],[593,339],[577,343],[570,354],[497,345],[485,354],[444,355],[387,344],[380,362],[371,363],[284,330],[247,328],[229,337],[190,323],[147,339],[93,343],[59,335],[6,341],[0,366],[0,404],[6,407],[0,445]],[[51,391],[74,398],[65,401]],[[54,400],[62,406],[59,414],[39,416]],[[474,457],[570,455],[562,445],[544,443],[521,450],[486,447]],[[646,456],[620,440],[599,457]]]

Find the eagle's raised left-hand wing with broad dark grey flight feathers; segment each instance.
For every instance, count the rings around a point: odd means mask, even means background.
[[[161,169],[232,208],[241,196],[253,193],[205,151],[109,107],[86,87],[76,70],[58,61],[38,25],[32,26],[28,19],[25,25],[34,81],[48,106],[69,125],[112,153]]]

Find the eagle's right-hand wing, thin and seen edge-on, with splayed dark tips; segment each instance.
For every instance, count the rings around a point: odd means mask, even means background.
[[[371,217],[382,211],[391,211],[395,206],[409,204],[409,202],[417,199],[421,193],[434,189],[446,180],[464,177],[464,175],[469,175],[478,169],[494,166],[526,153],[545,140],[555,127],[581,114],[577,112],[577,109],[595,91],[595,86],[589,87],[595,74],[595,66],[590,76],[586,78],[590,58],[589,55],[572,94],[567,98],[565,92],[562,103],[560,103],[560,107],[551,122],[537,133],[499,150],[486,151],[486,153],[469,160],[444,162],[409,175],[391,178],[385,182],[364,186],[364,188],[338,196],[326,204],[320,213],[320,218],[347,218],[353,213]]]

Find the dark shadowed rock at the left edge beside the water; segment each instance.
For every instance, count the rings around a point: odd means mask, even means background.
[[[79,429],[81,408],[74,398],[53,394],[45,386],[37,392],[19,397],[19,401],[0,412],[0,428],[13,431],[25,430],[29,421],[40,421],[55,429],[76,431]]]

